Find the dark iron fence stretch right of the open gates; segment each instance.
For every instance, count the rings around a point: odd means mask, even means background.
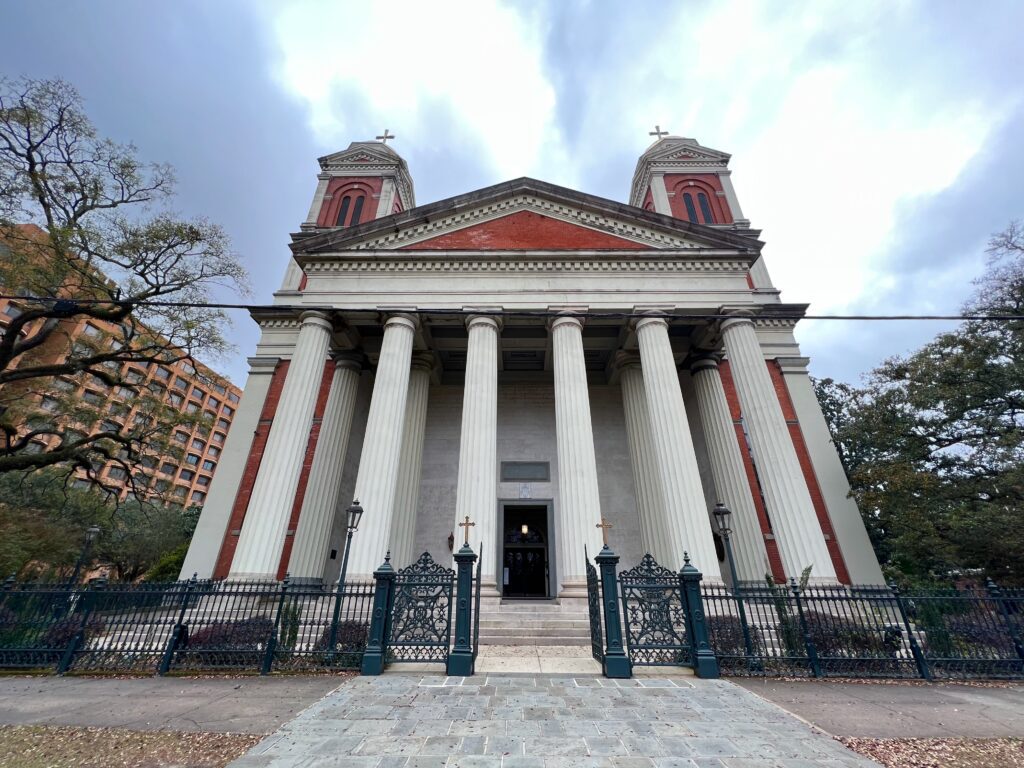
[[[1020,591],[721,585],[702,588],[723,674],[1024,677]],[[743,610],[739,610],[742,605]],[[744,622],[745,620],[745,622]],[[745,636],[744,636],[745,635]]]

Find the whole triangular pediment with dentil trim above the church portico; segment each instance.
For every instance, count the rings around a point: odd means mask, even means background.
[[[530,178],[419,206],[345,229],[298,236],[296,254],[342,250],[727,250],[761,244]]]

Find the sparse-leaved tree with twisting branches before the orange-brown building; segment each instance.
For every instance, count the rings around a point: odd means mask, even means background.
[[[142,496],[143,458],[194,421],[139,372],[223,351],[226,316],[203,303],[246,275],[220,227],[167,208],[173,187],[168,166],[98,136],[68,83],[0,78],[0,291],[57,299],[19,302],[0,338],[0,475],[102,484],[113,464]]]

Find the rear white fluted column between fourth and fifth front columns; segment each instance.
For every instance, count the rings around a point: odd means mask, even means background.
[[[665,559],[665,513],[662,510],[662,478],[650,434],[647,393],[643,388],[640,357],[621,352],[618,383],[623,389],[623,411],[626,414],[626,439],[633,465],[633,486],[636,489],[637,513],[640,516],[640,543],[644,552],[659,562]]]

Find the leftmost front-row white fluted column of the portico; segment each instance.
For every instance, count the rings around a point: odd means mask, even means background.
[[[331,343],[331,319],[327,314],[303,312],[301,321],[228,579],[278,577]]]

